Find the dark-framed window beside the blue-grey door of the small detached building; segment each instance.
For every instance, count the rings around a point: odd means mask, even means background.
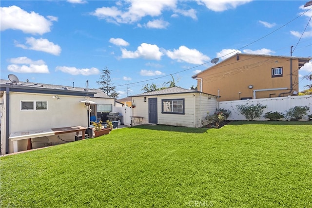
[[[161,113],[184,114],[184,99],[164,99],[161,103]]]

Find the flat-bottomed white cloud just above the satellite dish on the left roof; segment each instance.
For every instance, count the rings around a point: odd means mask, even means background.
[[[48,66],[45,65],[43,60],[34,61],[28,57],[10,58],[7,69],[15,73],[44,73],[48,74]]]

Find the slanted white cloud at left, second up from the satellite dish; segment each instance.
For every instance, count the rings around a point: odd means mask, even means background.
[[[43,51],[43,52],[53,54],[56,56],[59,56],[61,52],[61,48],[59,45],[56,45],[53,42],[50,42],[48,39],[44,39],[44,38],[39,38],[39,39],[35,39],[33,37],[26,38],[26,44],[28,46],[19,44],[19,43],[16,43],[15,46],[21,47],[23,49]]]

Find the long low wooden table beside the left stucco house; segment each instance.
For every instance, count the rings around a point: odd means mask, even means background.
[[[71,133],[82,132],[82,139],[84,139],[84,134],[87,128],[82,126],[73,126],[73,127],[61,127],[61,128],[54,128],[54,129],[44,129],[44,130],[33,130],[33,131],[24,131],[24,132],[13,132],[10,134],[9,139],[13,141],[13,152],[18,152],[18,141],[23,139],[28,139],[27,150],[32,149],[31,147],[31,140],[32,138],[38,138],[43,136],[53,136],[63,133]]]

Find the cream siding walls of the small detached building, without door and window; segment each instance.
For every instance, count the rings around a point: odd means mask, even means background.
[[[208,99],[211,97],[211,99]],[[183,127],[200,127],[201,120],[205,118],[207,111],[215,111],[217,108],[217,101],[214,96],[198,93],[190,94],[176,94],[176,95],[158,95],[147,96],[146,102],[142,97],[133,97],[133,101],[136,104],[135,108],[132,108],[132,115],[144,116],[143,123],[148,123],[148,99],[157,98],[157,119],[158,124],[183,126]],[[161,113],[161,100],[162,99],[183,99],[184,98],[184,112],[185,114],[167,114]],[[200,105],[200,101],[202,104]],[[201,116],[201,119],[200,119]]]

